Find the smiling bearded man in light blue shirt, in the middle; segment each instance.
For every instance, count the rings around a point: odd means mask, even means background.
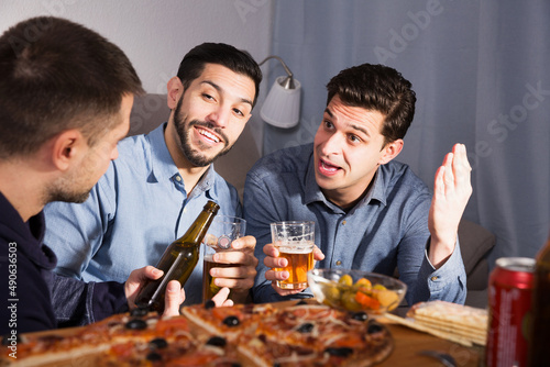
[[[243,51],[205,43],[185,55],[167,84],[167,123],[119,144],[119,159],[84,204],[46,207],[46,240],[57,244],[56,271],[86,281],[124,279],[142,264],[156,264],[182,236],[207,200],[218,215],[241,216],[239,194],[212,162],[234,144],[255,104],[262,71]],[[70,243],[66,246],[65,243]],[[255,238],[239,238],[235,251],[215,255],[216,285],[243,302],[254,282]],[[185,285],[186,304],[200,303],[202,262]]]

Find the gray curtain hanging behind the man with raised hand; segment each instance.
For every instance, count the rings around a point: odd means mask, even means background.
[[[302,85],[301,119],[265,125],[264,154],[312,142],[339,70],[392,66],[418,99],[397,159],[432,188],[444,154],[464,143],[474,189],[464,218],[497,236],[490,263],[534,257],[550,224],[549,37],[548,0],[278,0],[273,53]],[[278,75],[273,65],[266,80]]]

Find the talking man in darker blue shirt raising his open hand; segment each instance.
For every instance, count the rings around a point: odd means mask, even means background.
[[[287,260],[271,244],[270,223],[290,220],[316,222],[319,268],[392,276],[397,267],[409,304],[464,302],[466,276],[457,233],[472,193],[466,151],[457,144],[444,157],[433,198],[407,165],[393,160],[415,113],[410,87],[382,65],[342,70],[327,86],[314,144],[275,152],[249,171],[244,216],[261,259],[255,302],[311,297],[275,282],[288,278],[287,271],[273,270]]]

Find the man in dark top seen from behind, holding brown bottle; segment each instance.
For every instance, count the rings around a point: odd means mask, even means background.
[[[135,307],[140,283],[162,276],[146,266],[125,283],[58,277],[55,253],[42,241],[44,205],[86,200],[117,158],[141,92],[124,53],[79,24],[33,18],[0,37],[1,335],[55,329],[62,307],[59,324],[99,321]],[[218,305],[228,293],[220,291]],[[170,282],[164,314],[178,314],[184,298]]]

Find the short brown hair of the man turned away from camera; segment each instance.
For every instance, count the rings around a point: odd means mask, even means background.
[[[0,157],[67,129],[94,145],[120,123],[122,97],[142,92],[124,53],[96,32],[53,16],[20,22],[0,37]]]

